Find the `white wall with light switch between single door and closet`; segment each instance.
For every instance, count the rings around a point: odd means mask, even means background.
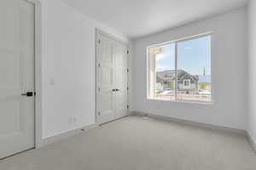
[[[41,0],[43,17],[43,138],[95,120],[95,29],[127,42],[61,0]],[[77,122],[69,124],[70,116]]]

